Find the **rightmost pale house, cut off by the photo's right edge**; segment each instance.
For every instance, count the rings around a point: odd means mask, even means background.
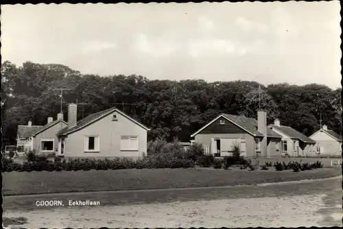
[[[323,125],[320,130],[309,136],[316,141],[317,154],[324,156],[337,156],[342,154],[342,136]]]

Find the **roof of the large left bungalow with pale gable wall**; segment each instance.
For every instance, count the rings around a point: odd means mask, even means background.
[[[105,117],[106,115],[108,115],[112,112],[118,112],[119,114],[123,115],[124,117],[130,119],[131,121],[133,121],[137,125],[144,128],[145,130],[150,130],[149,128],[145,127],[145,125],[143,125],[143,124],[139,123],[138,121],[132,119],[131,117],[126,115],[124,112],[118,110],[117,108],[110,108],[107,110],[102,110],[100,112],[96,112],[94,114],[88,115],[84,119],[81,119],[80,121],[78,121],[78,123],[75,126],[72,126],[72,127],[68,126],[67,128],[63,128],[62,130],[60,130],[57,133],[57,136],[67,135],[67,134],[70,134],[71,132],[75,132],[77,130],[80,130],[81,128],[84,128],[87,125],[91,125],[91,123],[94,123],[95,121],[101,119],[102,117]]]

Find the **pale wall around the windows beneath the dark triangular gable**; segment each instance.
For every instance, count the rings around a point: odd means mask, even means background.
[[[255,156],[255,138],[248,133],[237,134],[197,134],[195,141],[203,145],[210,145],[211,138],[246,138],[246,156]]]

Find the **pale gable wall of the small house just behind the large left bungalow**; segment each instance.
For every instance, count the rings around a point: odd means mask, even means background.
[[[44,130],[43,132],[40,132],[39,134],[34,136],[33,147],[36,150],[36,152],[42,153],[40,141],[43,138],[54,138],[54,152],[56,152],[58,149],[58,137],[56,136],[56,134],[58,131],[66,127],[67,127],[67,124],[65,123],[62,123],[62,122],[56,123],[55,125],[51,126],[47,130]]]

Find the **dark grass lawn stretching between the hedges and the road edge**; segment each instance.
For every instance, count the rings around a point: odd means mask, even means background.
[[[3,173],[3,195],[235,186],[340,176],[341,168],[292,171],[123,169]]]

